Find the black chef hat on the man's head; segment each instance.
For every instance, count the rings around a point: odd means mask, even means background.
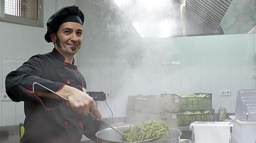
[[[50,33],[56,32],[59,26],[64,22],[77,22],[83,25],[83,12],[75,5],[63,7],[55,12],[46,23],[47,32],[45,34],[45,40],[47,42],[52,42]]]

